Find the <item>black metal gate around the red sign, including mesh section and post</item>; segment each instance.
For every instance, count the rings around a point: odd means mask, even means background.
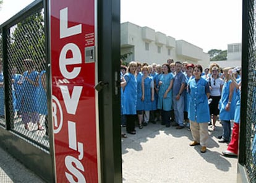
[[[121,182],[120,113],[116,113],[120,111],[120,0],[96,3],[96,82],[105,83],[96,100],[98,173],[101,182]],[[0,145],[46,182],[55,182],[48,11],[48,0],[36,0],[0,25]]]

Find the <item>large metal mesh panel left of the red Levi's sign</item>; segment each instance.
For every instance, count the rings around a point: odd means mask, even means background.
[[[7,57],[12,131],[49,149],[43,10],[9,28]]]

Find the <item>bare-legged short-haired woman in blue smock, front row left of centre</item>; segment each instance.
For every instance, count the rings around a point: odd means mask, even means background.
[[[148,75],[148,67],[144,66],[142,68],[143,78],[142,78],[142,100],[144,108],[144,123],[143,126],[148,125],[150,119],[150,111],[152,110],[154,101],[154,81],[153,77]]]

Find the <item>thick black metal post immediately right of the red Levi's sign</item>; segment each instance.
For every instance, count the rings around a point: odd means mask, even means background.
[[[98,95],[101,182],[122,182],[120,109],[120,0],[98,1]]]

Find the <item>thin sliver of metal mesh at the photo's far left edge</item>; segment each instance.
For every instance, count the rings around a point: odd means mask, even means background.
[[[0,61],[2,61],[2,33],[0,32]],[[2,69],[2,68],[1,68]],[[6,120],[4,118],[4,87],[3,83],[3,74],[0,70],[0,126],[6,127]]]

